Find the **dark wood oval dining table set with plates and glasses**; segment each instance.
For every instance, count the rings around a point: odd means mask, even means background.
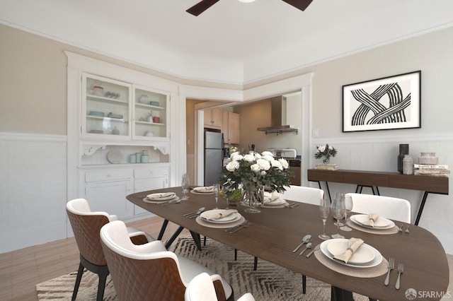
[[[168,206],[143,201],[147,194],[173,191],[182,196],[180,187],[156,189],[130,194],[127,199],[147,211],[161,216],[166,221],[180,225],[192,233],[198,233],[243,252],[270,261],[273,264],[289,270],[330,283],[341,291],[349,291],[366,295],[376,300],[407,300],[405,293],[409,288],[414,289],[423,300],[440,300],[447,293],[449,284],[449,268],[445,250],[439,240],[431,232],[416,225],[410,225],[410,232],[398,232],[392,235],[377,235],[352,229],[341,232],[346,238],[357,237],[379,250],[385,259],[393,257],[398,263],[404,264],[401,275],[401,288],[396,290],[395,283],[398,273],[396,268],[390,273],[390,284],[384,285],[386,274],[374,278],[358,278],[346,276],[324,266],[316,256],[299,256],[292,253],[306,234],[313,237],[313,245],[323,242],[318,235],[323,232],[323,224],[319,216],[318,206],[301,203],[294,208],[261,208],[260,213],[246,213],[241,205],[237,210],[251,222],[248,228],[243,228],[233,234],[224,229],[209,228],[197,223],[195,218],[185,218],[183,214],[205,207],[207,210],[215,207],[214,195],[188,193],[190,199]],[[219,198],[219,208],[224,208],[226,202]],[[165,223],[165,222],[164,222]],[[406,223],[397,222],[397,225]],[[337,231],[333,219],[326,223],[327,234]],[[178,235],[178,233],[176,233]],[[196,235],[195,235],[196,237]],[[259,266],[258,266],[259,268]],[[337,299],[341,299],[337,296]]]

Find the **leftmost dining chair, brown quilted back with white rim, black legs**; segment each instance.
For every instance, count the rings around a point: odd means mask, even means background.
[[[80,252],[79,271],[77,272],[71,300],[76,300],[84,268],[98,275],[96,300],[103,300],[105,281],[109,270],[101,247],[99,231],[103,225],[110,223],[111,220],[116,220],[117,216],[110,216],[101,211],[91,212],[86,199],[68,201],[66,211]],[[137,228],[127,228],[127,232],[133,244],[144,244],[154,240],[153,237]]]

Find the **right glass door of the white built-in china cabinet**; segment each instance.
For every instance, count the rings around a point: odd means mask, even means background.
[[[169,131],[169,94],[134,85],[134,122],[132,138],[135,140],[167,140]]]

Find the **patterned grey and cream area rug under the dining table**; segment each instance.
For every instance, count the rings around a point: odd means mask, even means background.
[[[207,239],[199,251],[190,235],[182,235],[174,242],[170,251],[186,256],[207,266],[231,284],[234,296],[252,293],[256,300],[331,300],[331,285],[307,277],[306,294],[302,294],[302,276],[258,259],[258,269],[253,271],[253,256],[238,252],[234,261],[234,249],[214,240]],[[36,285],[38,300],[71,300],[77,272],[54,278]],[[96,300],[98,276],[84,272],[77,300]],[[108,276],[104,300],[117,300],[113,282]],[[367,297],[354,294],[354,300],[365,301]]]

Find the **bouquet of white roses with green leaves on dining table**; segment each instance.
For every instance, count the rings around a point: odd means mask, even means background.
[[[261,187],[270,191],[285,191],[285,186],[290,184],[289,179],[294,176],[288,166],[287,160],[275,159],[268,151],[246,155],[231,153],[220,172],[226,197],[241,187],[255,191]]]

